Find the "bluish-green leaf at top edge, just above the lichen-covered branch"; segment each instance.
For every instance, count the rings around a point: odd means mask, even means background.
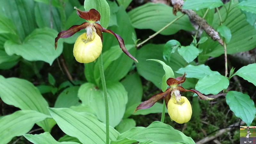
[[[202,2],[201,0],[186,0],[182,6],[182,9],[186,10],[200,10],[204,8],[213,9],[222,6],[221,0],[207,0]]]

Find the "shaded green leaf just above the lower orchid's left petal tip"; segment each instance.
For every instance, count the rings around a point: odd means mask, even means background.
[[[126,104],[126,108],[132,106],[134,103],[141,102],[143,89],[138,73],[126,75],[121,83],[123,84],[125,90],[128,92],[128,102]]]

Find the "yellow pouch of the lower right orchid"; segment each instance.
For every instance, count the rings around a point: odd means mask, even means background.
[[[181,96],[180,102],[176,100],[175,96],[171,96],[167,110],[171,119],[179,124],[187,123],[192,116],[191,104],[185,96]]]

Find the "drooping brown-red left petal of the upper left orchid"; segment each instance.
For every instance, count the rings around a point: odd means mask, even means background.
[[[67,38],[72,36],[73,34],[75,34],[76,32],[80,31],[81,29],[85,29],[90,23],[88,22],[84,22],[81,25],[74,25],[72,27],[70,27],[68,30],[66,31],[61,31],[58,36],[55,38],[55,49],[57,49],[57,45],[58,45],[58,40],[60,38]]]

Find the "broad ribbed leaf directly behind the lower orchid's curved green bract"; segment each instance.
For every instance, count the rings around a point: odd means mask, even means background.
[[[152,81],[158,88],[161,88],[161,80],[164,75],[163,66],[153,61],[147,61],[147,59],[161,60],[169,65],[174,72],[187,65],[187,62],[177,52],[171,54],[170,62],[164,61],[163,48],[164,44],[147,44],[137,51],[135,57],[139,61],[136,63],[138,73],[146,80]]]

